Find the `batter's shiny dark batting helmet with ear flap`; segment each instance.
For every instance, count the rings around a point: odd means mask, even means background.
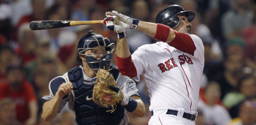
[[[188,22],[191,22],[195,18],[195,13],[193,11],[184,11],[180,5],[170,5],[157,14],[156,23],[167,25],[170,28],[175,28],[180,23],[180,19],[176,16],[180,13],[186,14]],[[168,21],[171,21],[171,23],[168,23]]]

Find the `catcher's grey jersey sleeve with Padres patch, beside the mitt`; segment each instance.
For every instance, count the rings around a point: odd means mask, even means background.
[[[119,76],[117,77],[116,84],[119,88],[122,89],[122,92],[124,94],[128,94],[129,96],[132,95],[138,95],[138,89],[136,86],[136,83],[132,80],[132,78],[123,76],[121,73],[119,73]]]

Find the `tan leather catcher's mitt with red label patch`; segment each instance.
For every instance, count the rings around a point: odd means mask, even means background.
[[[124,95],[122,90],[117,87],[113,75],[108,71],[103,69],[98,70],[93,87],[92,99],[97,105],[109,108],[110,110],[107,112],[111,111],[112,113],[116,110],[116,104],[123,100]]]

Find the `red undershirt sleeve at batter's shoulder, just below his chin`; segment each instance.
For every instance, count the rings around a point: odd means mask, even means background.
[[[194,56],[196,46],[192,38],[188,34],[180,33],[176,30],[174,32],[176,36],[169,45]]]

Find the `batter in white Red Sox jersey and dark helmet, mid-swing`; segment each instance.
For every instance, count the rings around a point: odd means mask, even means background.
[[[202,40],[191,34],[192,11],[170,5],[160,11],[156,23],[132,19],[116,11],[106,12],[103,23],[117,33],[116,64],[124,76],[139,81],[144,75],[152,112],[149,125],[195,125],[199,88],[204,68]],[[113,23],[118,18],[119,24]],[[125,37],[130,28],[159,42],[139,47],[132,55]]]

